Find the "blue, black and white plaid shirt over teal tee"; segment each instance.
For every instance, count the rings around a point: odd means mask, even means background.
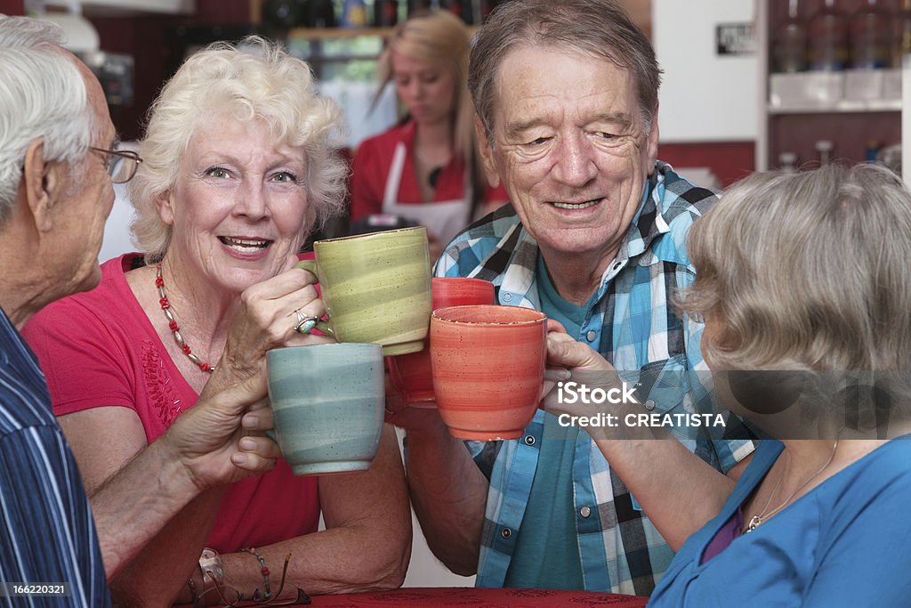
[[[619,370],[706,369],[699,347],[702,325],[679,318],[668,298],[695,278],[686,233],[714,201],[713,192],[683,180],[666,163],[656,164],[577,339],[591,343]],[[537,254],[537,243],[507,205],[456,236],[437,263],[436,274],[485,279],[494,283],[499,304],[540,308]],[[693,385],[680,391],[681,407],[698,408],[711,398],[707,387]],[[466,442],[490,482],[478,586],[502,586],[518,534],[535,533],[524,531],[522,520],[537,470],[544,416],[538,411],[522,438]],[[722,471],[753,448],[752,441],[743,439],[684,438],[682,443]],[[572,466],[585,588],[648,595],[673,552],[587,433],[578,434]]]

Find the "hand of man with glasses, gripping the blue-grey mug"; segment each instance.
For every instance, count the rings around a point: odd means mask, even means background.
[[[260,434],[271,427],[266,375],[261,372],[200,398],[161,440],[203,490],[271,470],[281,450]]]

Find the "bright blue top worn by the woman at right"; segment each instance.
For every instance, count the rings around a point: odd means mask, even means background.
[[[907,436],[906,436],[907,437]],[[671,562],[649,606],[906,606],[911,598],[911,440],[825,479],[700,565],[711,538],[781,453],[763,440],[721,513]]]

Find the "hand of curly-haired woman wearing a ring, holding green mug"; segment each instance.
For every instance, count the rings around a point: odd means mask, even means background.
[[[259,373],[266,352],[272,348],[335,341],[325,335],[302,335],[294,331],[297,311],[316,317],[326,313],[314,286],[316,277],[294,268],[296,262],[296,256],[289,258],[283,272],[251,285],[241,294],[241,305],[231,322],[224,353],[207,389],[212,385],[218,390]]]

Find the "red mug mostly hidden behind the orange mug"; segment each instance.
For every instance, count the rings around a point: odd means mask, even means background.
[[[464,304],[494,304],[494,285],[481,279],[436,277],[431,282],[433,309]],[[411,407],[435,407],[430,349],[407,355],[387,356],[386,366],[393,386]]]

